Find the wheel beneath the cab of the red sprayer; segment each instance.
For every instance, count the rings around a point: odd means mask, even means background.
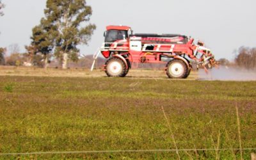
[[[125,77],[129,71],[129,68],[126,69],[124,61],[117,57],[109,58],[105,65],[105,72],[109,77]]]

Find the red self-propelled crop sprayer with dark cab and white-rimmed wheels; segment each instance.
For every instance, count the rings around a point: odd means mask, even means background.
[[[129,26],[107,26],[104,36],[105,42],[94,58],[100,52],[108,58],[103,70],[109,77],[125,77],[138,63],[166,63],[170,78],[188,77],[192,62],[206,71],[216,65],[203,42],[194,44],[193,38],[184,35],[133,34]]]

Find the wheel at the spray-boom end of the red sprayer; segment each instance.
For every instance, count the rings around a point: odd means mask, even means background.
[[[174,59],[167,63],[166,74],[173,79],[186,78],[190,74],[190,69],[184,61]]]

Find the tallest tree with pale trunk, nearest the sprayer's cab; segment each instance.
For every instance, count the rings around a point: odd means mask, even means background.
[[[62,67],[67,68],[67,61],[78,60],[77,45],[88,44],[95,24],[87,24],[92,15],[92,8],[85,0],[47,0],[45,19],[41,20],[52,30],[51,38],[54,55],[62,61]]]

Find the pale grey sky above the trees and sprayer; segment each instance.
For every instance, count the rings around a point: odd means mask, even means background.
[[[29,45],[31,29],[44,16],[46,0],[2,0],[0,47]],[[87,0],[97,30],[82,54],[100,47],[109,24],[131,26],[134,33],[177,33],[205,42],[216,59],[234,59],[241,46],[256,47],[255,0]]]

